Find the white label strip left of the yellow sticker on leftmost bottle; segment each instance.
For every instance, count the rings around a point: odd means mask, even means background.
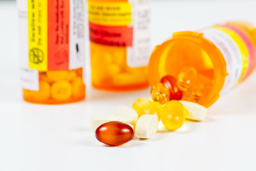
[[[20,84],[24,89],[38,91],[38,71],[28,67],[28,0],[17,0],[20,36]]]

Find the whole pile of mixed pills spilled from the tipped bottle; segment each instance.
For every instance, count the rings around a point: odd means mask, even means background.
[[[134,136],[152,138],[157,132],[159,121],[168,131],[179,129],[186,119],[203,121],[207,108],[182,101],[182,93],[188,91],[191,84],[184,76],[180,78],[182,83],[179,85],[174,77],[166,75],[152,87],[152,99],[138,98],[132,108],[120,106],[114,109],[113,114],[92,117],[91,126],[97,140],[107,145],[122,145]],[[189,78],[193,78],[191,76]]]

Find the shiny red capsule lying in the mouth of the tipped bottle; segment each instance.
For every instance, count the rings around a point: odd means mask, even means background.
[[[177,80],[175,77],[166,75],[161,79],[163,83],[170,91],[170,100],[181,100],[183,92],[177,86]]]

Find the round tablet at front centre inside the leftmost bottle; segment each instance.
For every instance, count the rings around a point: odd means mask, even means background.
[[[72,86],[68,81],[62,80],[52,84],[52,98],[59,101],[68,100],[72,95]]]

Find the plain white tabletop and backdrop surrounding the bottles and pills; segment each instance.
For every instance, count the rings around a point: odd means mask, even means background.
[[[256,24],[256,1],[154,1],[152,46],[173,31],[225,20]],[[0,170],[256,170],[256,75],[225,94],[206,121],[106,147],[90,130],[90,118],[116,105],[149,96],[148,89],[106,93],[88,87],[86,101],[33,105],[22,100],[15,3],[0,1]],[[90,77],[87,78],[90,80]]]

